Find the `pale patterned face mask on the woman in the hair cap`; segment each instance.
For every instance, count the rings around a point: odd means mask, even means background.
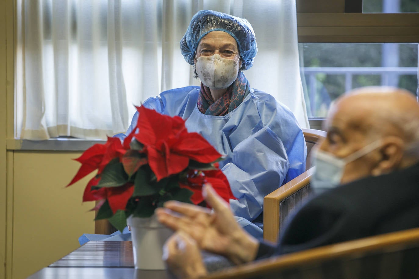
[[[205,86],[224,89],[237,79],[237,62],[222,58],[218,54],[201,56],[197,59],[197,74]]]

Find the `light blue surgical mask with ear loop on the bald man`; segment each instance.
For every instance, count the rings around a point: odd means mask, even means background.
[[[317,150],[313,159],[315,169],[310,179],[310,187],[317,195],[327,189],[339,186],[345,171],[345,166],[348,163],[370,153],[380,146],[381,140],[374,141],[345,158],[338,158],[328,152]]]

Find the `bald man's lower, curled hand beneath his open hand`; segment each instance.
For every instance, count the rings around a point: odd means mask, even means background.
[[[163,260],[177,278],[195,279],[207,274],[197,242],[182,231],[166,241]]]

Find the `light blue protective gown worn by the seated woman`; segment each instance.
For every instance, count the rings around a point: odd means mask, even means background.
[[[180,116],[189,132],[200,133],[226,156],[220,169],[237,197],[230,200],[231,210],[243,228],[261,238],[259,215],[264,196],[305,171],[303,132],[292,112],[263,91],[251,89],[243,102],[224,116],[202,114],[198,95],[199,87],[177,88],[149,98],[143,105],[164,115]],[[115,136],[123,139],[128,135],[137,118],[138,112],[127,133]]]

